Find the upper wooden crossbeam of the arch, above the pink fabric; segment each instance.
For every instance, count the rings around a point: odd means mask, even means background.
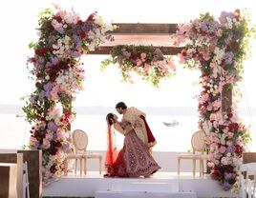
[[[113,24],[117,30],[110,34],[172,34],[177,30],[177,24]]]

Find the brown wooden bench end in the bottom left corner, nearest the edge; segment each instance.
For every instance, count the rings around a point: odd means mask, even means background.
[[[17,164],[0,163],[0,197],[16,198]]]

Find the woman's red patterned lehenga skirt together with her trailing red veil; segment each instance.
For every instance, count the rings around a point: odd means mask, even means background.
[[[125,135],[123,148],[117,152],[115,135],[111,127],[108,128],[106,177],[148,177],[160,169],[134,130]]]

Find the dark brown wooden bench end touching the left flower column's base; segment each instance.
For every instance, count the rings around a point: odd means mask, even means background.
[[[30,196],[42,198],[42,150],[18,150],[23,153],[23,161],[28,163]]]

